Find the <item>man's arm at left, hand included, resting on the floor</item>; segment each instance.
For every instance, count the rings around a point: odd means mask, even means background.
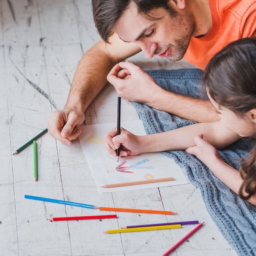
[[[140,51],[133,43],[113,36],[111,44],[102,40],[82,57],[76,69],[70,94],[63,110],[52,112],[47,119],[48,132],[59,141],[71,145],[81,133],[77,127],[84,121],[84,111],[107,84],[106,76],[119,61]]]

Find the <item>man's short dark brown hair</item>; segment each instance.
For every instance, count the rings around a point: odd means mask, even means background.
[[[163,8],[173,16],[176,15],[176,12],[168,5],[169,0],[92,0],[94,23],[99,35],[106,43],[109,43],[110,36],[114,34],[112,27],[128,9],[131,2],[137,5],[139,14],[148,16],[150,10]],[[148,16],[148,18],[153,17]]]

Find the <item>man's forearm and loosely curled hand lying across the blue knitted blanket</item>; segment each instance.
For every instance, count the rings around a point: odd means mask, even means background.
[[[140,67],[129,61],[115,65],[107,79],[123,99],[144,103],[200,123],[220,120],[210,101],[168,92],[158,86]]]

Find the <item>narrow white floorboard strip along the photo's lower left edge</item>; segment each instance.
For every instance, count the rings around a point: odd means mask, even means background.
[[[4,70],[3,48],[0,49],[0,251],[5,255],[18,254],[17,225],[15,211],[15,197],[13,185],[13,168],[11,160],[11,144],[9,132],[9,109],[7,97],[7,84]]]

